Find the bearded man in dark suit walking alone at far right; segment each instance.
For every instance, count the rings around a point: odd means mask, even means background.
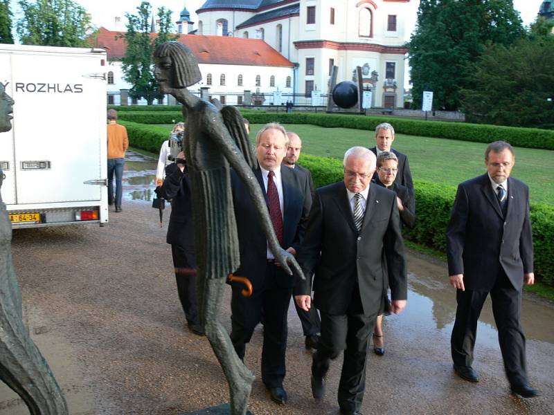
[[[525,336],[521,329],[521,291],[533,284],[533,241],[529,190],[510,177],[514,150],[496,141],[485,151],[487,173],[458,186],[447,228],[450,284],[457,289],[451,351],[456,374],[478,382],[472,368],[477,320],[490,293],[494,322],[512,393],[531,398]]]

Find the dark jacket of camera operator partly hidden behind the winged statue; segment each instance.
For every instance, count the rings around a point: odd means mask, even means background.
[[[169,218],[166,241],[184,249],[186,260],[196,268],[195,232],[193,223],[193,205],[190,201],[190,178],[185,168],[184,173],[175,163],[166,167],[166,180],[157,192],[163,199],[171,199],[171,216]]]

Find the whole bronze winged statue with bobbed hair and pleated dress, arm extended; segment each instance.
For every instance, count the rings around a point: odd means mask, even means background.
[[[186,87],[202,79],[198,62],[184,44],[166,42],[154,51],[154,75],[162,93],[183,104],[186,120],[184,153],[193,192],[197,290],[200,318],[206,337],[224,371],[231,395],[231,413],[243,415],[253,375],[238,358],[229,333],[217,320],[227,275],[240,264],[237,226],[231,196],[229,167],[250,190],[269,248],[287,273],[302,275],[294,257],[279,246],[260,185],[257,168],[242,116],[234,107],[217,109],[190,93]]]

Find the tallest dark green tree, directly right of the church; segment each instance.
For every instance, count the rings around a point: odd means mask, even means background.
[[[461,89],[475,79],[467,63],[486,44],[509,45],[524,33],[512,0],[421,0],[408,45],[415,106],[433,91],[435,108],[457,110]]]

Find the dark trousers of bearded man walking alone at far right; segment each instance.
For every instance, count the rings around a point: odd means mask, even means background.
[[[489,291],[458,290],[456,292],[456,321],[450,340],[455,365],[471,366],[477,332],[477,320]],[[525,335],[521,329],[521,288],[517,289],[499,272],[497,282],[490,291],[492,313],[497,324],[504,369],[510,385],[528,382],[525,361]]]

